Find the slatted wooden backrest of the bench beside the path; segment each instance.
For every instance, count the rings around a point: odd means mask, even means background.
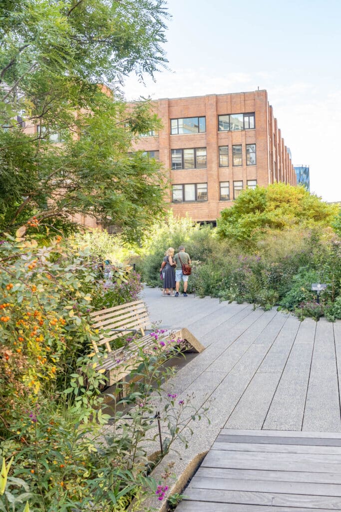
[[[121,306],[93,311],[90,313],[90,316],[93,320],[94,329],[107,331],[106,336],[100,334],[98,345],[105,345],[108,352],[111,352],[109,342],[112,342],[112,340],[120,338],[125,334],[131,334],[129,329],[140,330],[144,336],[144,331],[149,325],[149,315],[143,301],[128,302],[127,304],[121,304]],[[119,329],[120,331],[112,331],[108,335],[112,329]],[[98,352],[96,344],[94,344],[94,348]]]

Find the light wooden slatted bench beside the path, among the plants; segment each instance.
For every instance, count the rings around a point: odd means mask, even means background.
[[[154,353],[154,347],[169,349],[171,339],[180,339],[181,352],[202,352],[204,347],[188,329],[165,330],[155,336],[146,334],[151,331],[146,305],[143,301],[134,301],[113,308],[90,313],[93,328],[99,330],[99,341],[93,342],[95,352],[104,345],[105,355],[99,368],[105,370],[108,385],[111,386],[127,375],[137,366],[141,349],[145,353]],[[139,333],[142,337],[127,342],[123,347],[112,350],[110,343],[127,334]],[[165,342],[164,346],[161,342]]]

